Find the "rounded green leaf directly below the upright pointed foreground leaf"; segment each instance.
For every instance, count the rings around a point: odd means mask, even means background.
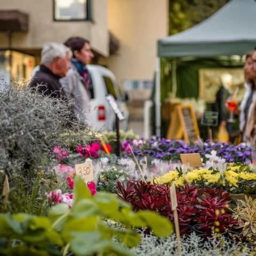
[[[73,207],[73,216],[75,218],[90,217],[99,214],[98,205],[92,199],[81,199]]]

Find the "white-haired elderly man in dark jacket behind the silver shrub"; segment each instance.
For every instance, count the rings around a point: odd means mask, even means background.
[[[72,52],[59,43],[47,43],[41,53],[41,65],[30,82],[43,95],[60,98],[62,94],[59,79],[67,75]]]

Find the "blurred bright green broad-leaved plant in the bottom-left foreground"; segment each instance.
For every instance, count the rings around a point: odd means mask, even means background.
[[[106,219],[120,222],[124,229],[110,227]],[[60,203],[49,217],[29,214],[0,214],[1,255],[131,255],[125,249],[137,246],[140,235],[133,227],[149,227],[157,236],[173,233],[171,223],[154,212],[138,211],[115,195],[91,195],[86,184],[75,178],[73,209]],[[113,242],[116,237],[119,243]]]

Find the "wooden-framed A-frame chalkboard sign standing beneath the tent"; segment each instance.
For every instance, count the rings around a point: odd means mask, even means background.
[[[186,142],[195,142],[198,140],[200,134],[193,107],[191,105],[178,106],[178,113],[184,134],[184,140]]]

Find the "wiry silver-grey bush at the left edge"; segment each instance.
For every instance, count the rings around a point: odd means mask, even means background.
[[[75,129],[69,103],[10,85],[0,91],[0,170],[32,174],[47,161],[61,133]]]

